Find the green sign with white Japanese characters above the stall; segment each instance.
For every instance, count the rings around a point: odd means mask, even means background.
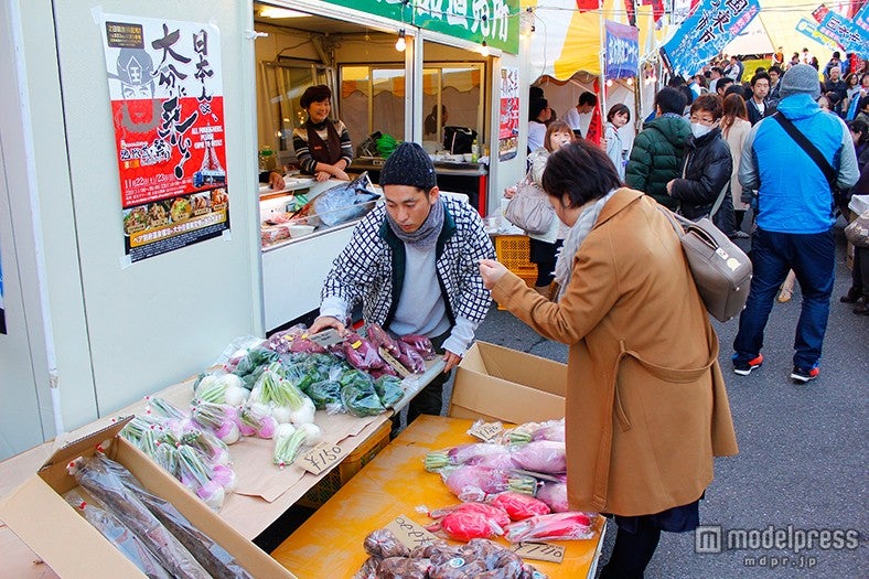
[[[324,0],[457,39],[519,52],[519,0]]]

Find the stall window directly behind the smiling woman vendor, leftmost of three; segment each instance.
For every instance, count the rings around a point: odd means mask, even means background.
[[[282,62],[264,62],[261,74],[267,98],[266,124],[273,127],[273,138],[271,142],[260,144],[271,146],[281,164],[292,164],[296,161],[292,129],[301,127],[305,121],[305,112],[299,105],[299,98],[309,86],[334,87],[334,74],[322,65]],[[337,116],[337,110],[333,110],[333,116]]]

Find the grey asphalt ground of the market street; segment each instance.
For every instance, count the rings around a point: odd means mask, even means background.
[[[748,377],[732,374],[731,345],[737,321],[717,324],[740,453],[718,459],[716,478],[700,505],[704,525],[726,536],[745,529],[761,548],[695,553],[695,534],[664,534],[646,577],[781,578],[869,577],[869,493],[867,493],[867,395],[869,317],[851,313],[838,298],[850,285],[845,244],[838,237],[836,289],[824,343],[820,377],[795,386],[788,379],[800,292],[776,304],[766,328],[764,365]],[[509,313],[494,307],[478,339],[565,362],[567,347],[540,339]],[[774,532],[813,535],[813,548],[762,548]],[[843,547],[840,535],[860,534],[859,547]],[[614,526],[601,561],[612,548]],[[765,532],[765,535],[764,535]],[[833,546],[818,547],[818,538]],[[838,538],[838,539],[837,539]],[[786,538],[784,540],[787,540]]]

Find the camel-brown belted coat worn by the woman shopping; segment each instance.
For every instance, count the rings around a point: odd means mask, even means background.
[[[571,508],[648,515],[691,503],[737,453],[718,339],[679,240],[652,197],[619,190],[558,303],[508,272],[493,298],[570,346]]]

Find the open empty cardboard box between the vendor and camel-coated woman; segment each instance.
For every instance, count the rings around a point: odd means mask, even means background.
[[[507,422],[565,417],[567,365],[476,342],[455,371],[449,416]]]

